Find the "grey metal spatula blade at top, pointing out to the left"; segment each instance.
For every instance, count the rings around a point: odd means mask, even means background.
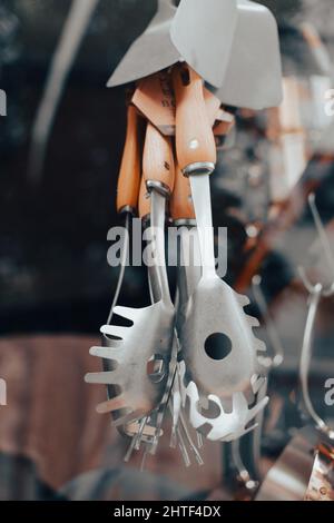
[[[170,40],[170,23],[176,7],[170,0],[158,0],[158,11],[145,32],[135,40],[107,86],[116,87],[165,69],[179,60]]]

